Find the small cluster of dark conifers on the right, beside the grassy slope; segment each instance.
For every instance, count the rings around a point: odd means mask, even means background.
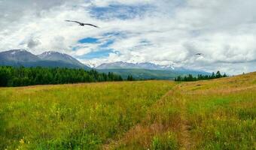
[[[198,74],[197,77],[193,77],[192,74],[189,74],[188,76],[184,76],[184,77],[182,76],[175,77],[175,81],[213,80],[221,77],[227,77],[227,74],[222,75],[220,71],[217,71],[216,74],[213,72],[212,75]]]

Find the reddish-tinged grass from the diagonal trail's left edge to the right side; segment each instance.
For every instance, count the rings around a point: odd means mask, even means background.
[[[181,83],[109,149],[254,149],[256,74]]]

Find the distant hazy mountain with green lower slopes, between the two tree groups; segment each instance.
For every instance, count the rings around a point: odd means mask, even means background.
[[[204,71],[173,68],[171,65],[155,65],[150,62],[136,64],[128,62],[113,62],[99,65],[96,69],[103,73],[113,72],[115,74],[120,74],[124,79],[129,75],[132,75],[134,78],[139,80],[173,80],[175,77],[187,74],[192,74],[194,76],[197,76],[198,74],[209,75],[209,73]]]

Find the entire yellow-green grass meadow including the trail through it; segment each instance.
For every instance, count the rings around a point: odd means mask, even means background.
[[[255,149],[256,73],[0,89],[0,149]]]

